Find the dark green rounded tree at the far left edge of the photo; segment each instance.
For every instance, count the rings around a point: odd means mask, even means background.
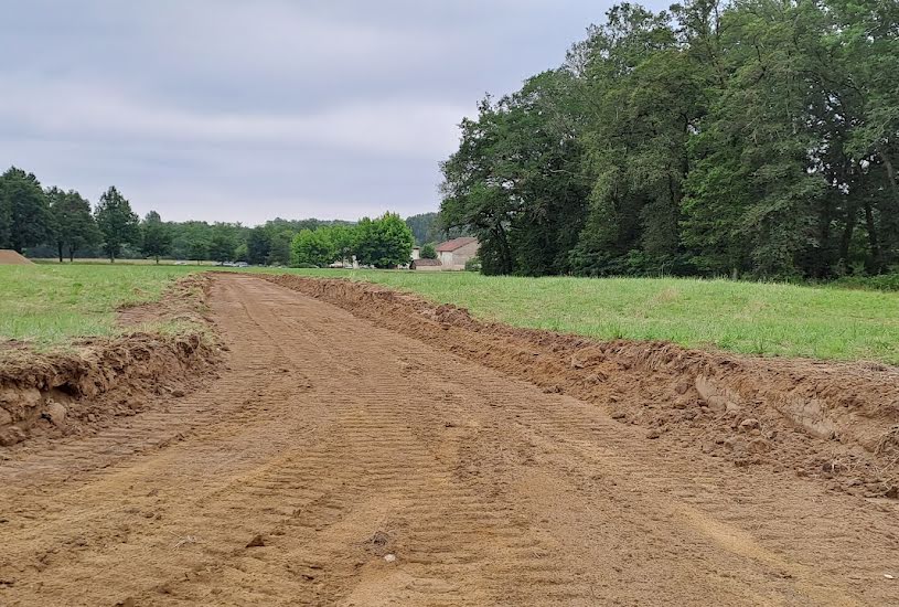
[[[22,253],[51,239],[52,228],[50,206],[38,178],[10,167],[0,175],[0,248]]]

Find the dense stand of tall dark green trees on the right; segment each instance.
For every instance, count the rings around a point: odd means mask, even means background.
[[[462,121],[440,215],[492,274],[879,274],[897,164],[896,0],[624,3]]]

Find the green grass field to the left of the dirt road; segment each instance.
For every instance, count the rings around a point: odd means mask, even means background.
[[[0,266],[0,341],[38,349],[119,332],[116,309],[159,299],[190,266]],[[165,327],[159,327],[167,329]]]

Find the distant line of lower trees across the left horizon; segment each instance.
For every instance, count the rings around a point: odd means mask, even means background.
[[[0,248],[28,249],[32,257],[55,256],[60,262],[105,255],[110,260],[324,266],[355,257],[363,265],[394,267],[408,263],[416,243],[442,236],[436,213],[405,221],[394,213],[358,222],[275,219],[255,227],[164,222],[156,211],[141,220],[115,187],[92,207],[78,192],[43,188],[34,174],[15,167],[0,175]]]

